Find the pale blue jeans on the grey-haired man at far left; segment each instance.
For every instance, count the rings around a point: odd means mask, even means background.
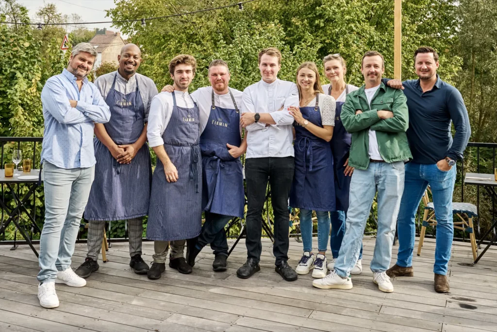
[[[64,169],[43,163],[45,223],[40,237],[39,282],[55,282],[71,267],[76,237],[88,201],[95,167]]]

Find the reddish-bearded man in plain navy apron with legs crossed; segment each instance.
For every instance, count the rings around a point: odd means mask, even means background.
[[[244,218],[245,189],[240,156],[247,149],[247,136],[242,141],[240,107],[242,92],[228,87],[230,70],[223,60],[209,64],[210,87],[191,94],[200,110],[200,149],[202,151],[202,210],[205,222],[198,239],[188,243],[188,265],[203,247],[210,243],[214,250],[214,271],[225,271],[228,241],[224,226],[234,217]],[[170,85],[163,91],[172,92]],[[230,199],[226,199],[229,197]]]

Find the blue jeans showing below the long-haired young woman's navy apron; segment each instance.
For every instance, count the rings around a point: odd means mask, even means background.
[[[318,251],[326,251],[330,236],[330,213],[316,211],[318,217]],[[300,231],[304,251],[312,251],[312,210],[300,209]]]

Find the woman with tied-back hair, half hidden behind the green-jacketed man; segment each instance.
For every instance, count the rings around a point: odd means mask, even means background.
[[[331,96],[336,101],[335,109],[335,125],[333,137],[331,138],[331,151],[333,154],[333,175],[334,189],[336,197],[336,211],[331,211],[331,237],[330,246],[333,259],[328,264],[328,268],[333,270],[335,259],[338,258],[343,235],[345,234],[345,220],[348,210],[348,192],[350,189],[350,177],[354,169],[348,166],[348,154],[352,134],[348,133],[340,119],[342,105],[345,103],[345,98],[348,93],[359,88],[346,84],[344,76],[347,72],[347,65],[340,54],[330,54],[323,59],[325,67],[325,75],[330,80],[330,84],[325,84],[323,90],[325,94]],[[362,246],[359,254],[359,260],[354,268],[350,271],[351,274],[359,274],[362,272]]]

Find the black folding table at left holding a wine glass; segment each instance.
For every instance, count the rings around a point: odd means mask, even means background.
[[[22,237],[24,237],[26,242],[29,244],[29,246],[31,247],[31,249],[35,253],[36,257],[38,257],[38,252],[34,248],[33,243],[31,242],[31,239],[29,238],[24,227],[21,227],[19,222],[17,222],[16,217],[20,216],[21,212],[24,211],[26,213],[26,216],[28,216],[28,220],[31,222],[33,228],[36,229],[39,233],[41,233],[40,227],[38,227],[34,218],[29,214],[29,212],[27,211],[27,209],[24,205],[24,204],[26,204],[26,202],[28,202],[31,195],[33,195],[34,191],[38,187],[38,177],[40,175],[40,170],[39,169],[32,169],[31,172],[22,172],[22,171],[19,172],[18,171],[18,174],[19,174],[19,176],[12,176],[12,177],[6,178],[5,177],[5,170],[3,170],[3,169],[0,170],[0,184],[2,186],[6,185],[6,193],[10,193],[12,195],[12,197],[14,198],[14,201],[16,203],[16,207],[11,210],[10,208],[7,207],[8,201],[4,201],[6,195],[2,195],[2,197],[0,197],[0,206],[8,214],[8,219],[5,222],[3,222],[3,220],[0,221],[0,234],[5,231],[5,229],[10,224],[10,222],[13,222],[15,227],[17,228],[17,230],[21,233]],[[33,179],[33,180],[19,179],[19,177],[22,178],[22,176],[36,176],[36,179]],[[21,184],[25,184],[29,188],[26,195],[24,195],[24,197],[22,197],[22,198],[19,197],[16,194],[15,190],[13,189],[14,185],[19,186]],[[19,187],[17,187],[17,188],[19,188]]]

